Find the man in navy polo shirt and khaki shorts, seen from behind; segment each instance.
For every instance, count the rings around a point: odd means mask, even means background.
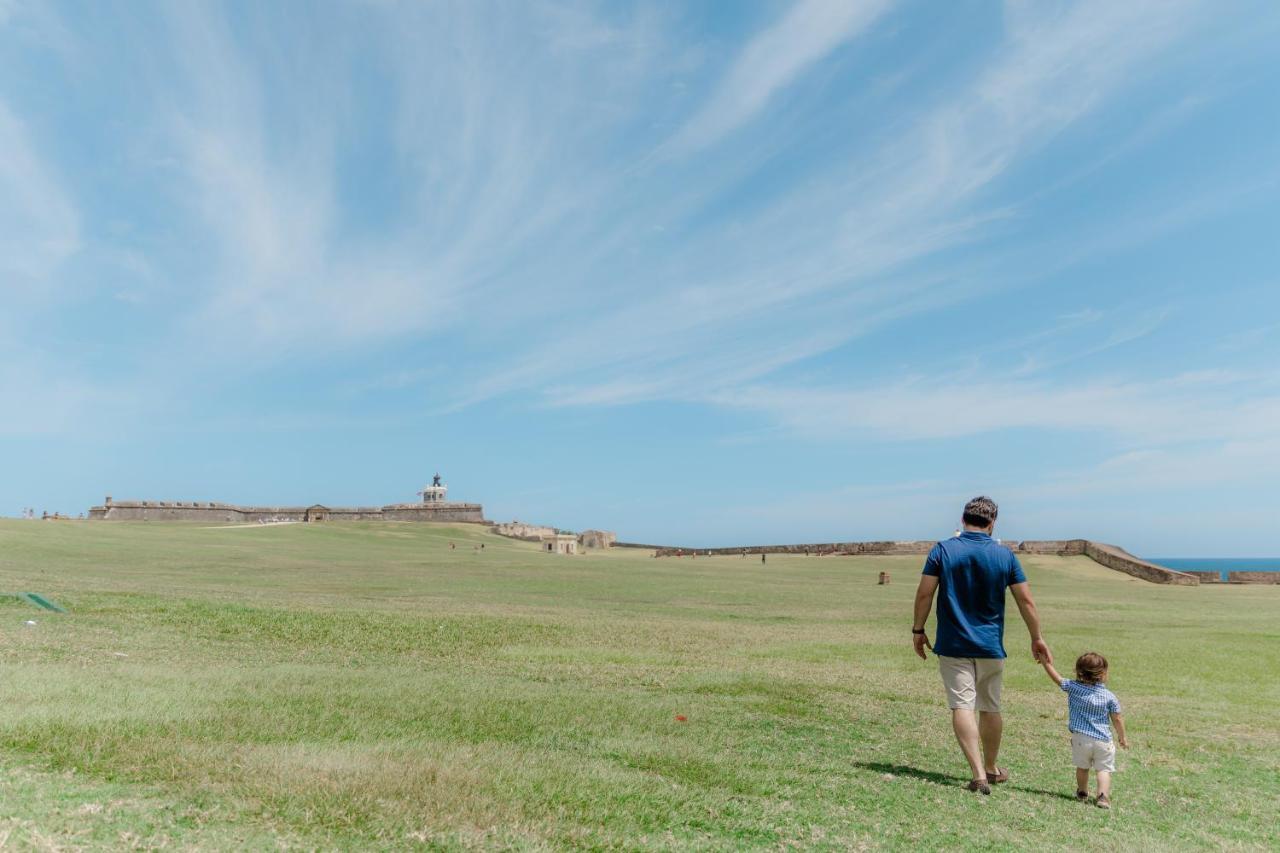
[[[997,512],[989,497],[965,503],[964,532],[933,546],[924,561],[911,622],[915,653],[925,660],[924,649],[929,648],[938,658],[951,727],[969,762],[969,790],[983,794],[991,793],[992,783],[1009,781],[1009,771],[996,765],[1005,727],[1000,716],[1006,657],[1005,589],[1012,590],[1030,631],[1032,657],[1038,663],[1053,662],[1041,637],[1039,615],[1018,557],[991,538]],[[937,638],[929,646],[924,624],[933,594],[940,590]]]

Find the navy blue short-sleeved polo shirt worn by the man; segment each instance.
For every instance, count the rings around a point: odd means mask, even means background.
[[[1005,589],[1027,580],[1014,552],[965,530],[933,546],[924,574],[938,579],[938,635],[945,657],[1005,657]]]

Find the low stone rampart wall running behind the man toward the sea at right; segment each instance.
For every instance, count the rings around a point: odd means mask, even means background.
[[[924,556],[929,553],[933,547],[931,540],[908,540],[908,542],[822,542],[810,544],[787,544],[787,546],[753,546],[748,548],[672,548],[660,547],[654,549],[654,556],[657,557],[676,557],[681,555],[698,555],[698,556],[730,556],[736,557],[742,553],[804,553],[804,555],[841,555],[841,556],[858,556],[858,555],[918,555]],[[1014,553],[1027,553],[1027,555],[1053,555],[1059,557],[1079,557],[1085,556],[1097,562],[1098,565],[1106,566],[1107,569],[1115,569],[1116,571],[1123,571],[1126,575],[1133,575],[1134,578],[1140,578],[1142,580],[1149,580],[1155,584],[1176,584],[1183,587],[1197,587],[1201,583],[1201,578],[1185,571],[1174,571],[1172,569],[1165,569],[1164,566],[1157,566],[1153,562],[1148,562],[1140,557],[1135,557],[1124,548],[1116,546],[1105,544],[1101,542],[1091,542],[1088,539],[1027,539],[1025,542],[1005,542],[1004,546],[1011,549]],[[1231,573],[1233,575],[1267,575],[1277,573]],[[1238,580],[1236,583],[1277,583],[1277,580]]]

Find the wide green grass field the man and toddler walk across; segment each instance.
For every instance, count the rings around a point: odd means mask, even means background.
[[[0,598],[0,847],[1280,848],[1280,588],[1024,561],[1060,669],[1111,660],[1107,813],[1012,606],[1014,780],[963,790],[920,562],[0,521],[0,590],[70,611]]]

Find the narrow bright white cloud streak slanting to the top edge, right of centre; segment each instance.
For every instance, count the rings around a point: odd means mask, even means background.
[[[748,124],[810,65],[865,32],[892,0],[800,0],[739,54],[703,108],[672,140],[687,154]]]

